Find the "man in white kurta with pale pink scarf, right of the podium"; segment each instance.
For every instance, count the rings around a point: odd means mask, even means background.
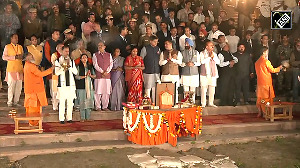
[[[206,106],[206,93],[208,90],[208,106],[217,107],[214,105],[215,88],[217,86],[218,69],[217,64],[220,60],[217,54],[213,51],[214,44],[206,43],[206,48],[200,53],[200,85],[201,85],[201,106]]]

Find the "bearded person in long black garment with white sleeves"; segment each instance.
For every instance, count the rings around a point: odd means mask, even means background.
[[[225,43],[218,54],[220,60],[220,78],[217,91],[220,91],[221,105],[232,106],[234,94],[234,64],[238,59],[230,52],[229,44]]]

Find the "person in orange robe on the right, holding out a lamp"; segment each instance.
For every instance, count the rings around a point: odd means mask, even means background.
[[[260,58],[255,63],[255,71],[257,74],[257,88],[256,88],[256,106],[258,108],[258,115],[260,117],[262,112],[266,111],[266,104],[273,104],[275,97],[271,73],[278,73],[282,69],[282,65],[273,68],[271,62],[268,60],[268,47],[263,47]]]

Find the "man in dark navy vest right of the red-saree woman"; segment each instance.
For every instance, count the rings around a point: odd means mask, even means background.
[[[147,97],[152,97],[152,102],[155,102],[155,84],[160,82],[159,56],[160,49],[157,46],[158,38],[154,35],[150,37],[150,44],[146,45],[141,50],[141,57],[144,59],[144,87]],[[151,95],[152,92],[152,96]]]

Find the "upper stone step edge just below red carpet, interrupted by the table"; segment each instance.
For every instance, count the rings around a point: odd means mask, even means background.
[[[202,135],[219,136],[231,134],[246,134],[272,131],[292,131],[300,128],[300,121],[256,122],[237,124],[203,125]],[[74,132],[74,133],[43,133],[19,134],[0,136],[0,147],[26,145],[46,145],[51,143],[77,142],[77,141],[116,141],[126,140],[127,135],[123,130]],[[0,148],[1,149],[1,148]]]

